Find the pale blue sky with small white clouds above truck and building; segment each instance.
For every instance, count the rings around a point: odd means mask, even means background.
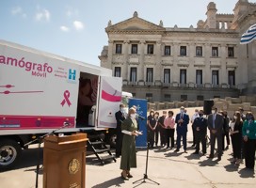
[[[212,0],[217,13],[233,13],[238,0]],[[165,27],[196,27],[211,0],[2,0],[0,39],[100,65],[109,20],[133,16]],[[255,3],[256,0],[249,0]]]

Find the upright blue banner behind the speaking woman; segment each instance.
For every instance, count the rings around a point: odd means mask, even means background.
[[[137,148],[147,148],[147,100],[129,99],[129,108],[136,106],[138,129],[142,135],[136,137]]]

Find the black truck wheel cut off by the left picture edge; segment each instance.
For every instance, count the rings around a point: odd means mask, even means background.
[[[12,168],[21,158],[22,148],[15,140],[0,140],[0,169]]]

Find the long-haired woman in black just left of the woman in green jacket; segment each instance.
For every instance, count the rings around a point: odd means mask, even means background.
[[[232,137],[232,153],[233,162],[241,163],[241,137],[242,137],[243,120],[240,112],[236,111],[233,114],[232,122],[230,123],[230,133]]]

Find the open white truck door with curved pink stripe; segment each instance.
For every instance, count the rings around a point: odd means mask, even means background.
[[[120,77],[101,76],[97,109],[98,128],[116,128],[115,113],[120,110],[121,86]]]

